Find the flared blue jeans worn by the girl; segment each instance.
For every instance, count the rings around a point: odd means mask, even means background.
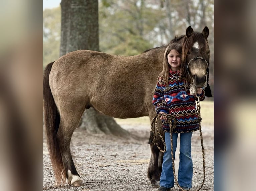
[[[180,134],[178,183],[180,186],[191,188],[192,175],[193,175],[193,164],[192,164],[192,158],[191,158],[192,132],[172,134],[174,159],[175,159],[175,152],[177,148],[178,134]],[[165,143],[166,143],[166,152],[163,155],[163,166],[162,166],[162,174],[160,177],[160,186],[172,188],[174,187],[174,175],[172,170],[171,139],[170,139],[169,132],[165,132]]]

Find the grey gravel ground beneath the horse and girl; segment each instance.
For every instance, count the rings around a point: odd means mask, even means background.
[[[73,187],[67,183],[62,187],[54,186],[54,175],[47,150],[43,128],[43,190],[54,191],[156,191],[147,178],[150,159],[148,144],[150,126],[145,124],[121,124],[121,126],[139,135],[141,140],[121,139],[103,134],[87,134],[81,129],[75,130],[71,151],[77,171],[85,186]],[[206,179],[201,190],[213,190],[213,126],[202,124],[205,148]],[[179,140],[178,140],[179,141]],[[178,172],[179,148],[175,159],[175,172]],[[193,133],[193,188],[197,190],[203,180],[202,150],[199,131]],[[173,191],[179,188],[175,184]]]

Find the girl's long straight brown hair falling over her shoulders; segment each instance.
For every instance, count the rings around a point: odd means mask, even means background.
[[[163,70],[160,74],[160,77],[163,79],[163,82],[168,86],[169,85],[169,71],[170,71],[170,65],[168,63],[168,54],[171,52],[171,50],[176,50],[180,55],[182,52],[182,46],[179,43],[172,43],[169,44],[169,46],[165,49],[164,52],[164,58],[163,58]],[[180,78],[184,78],[186,81],[186,87],[190,83],[190,77],[188,76],[186,64],[181,61],[180,66]]]

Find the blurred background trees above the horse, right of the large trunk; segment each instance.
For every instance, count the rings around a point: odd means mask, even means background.
[[[101,0],[99,18],[101,51],[126,56],[166,44],[189,25],[195,31],[208,26],[214,92],[213,0]]]

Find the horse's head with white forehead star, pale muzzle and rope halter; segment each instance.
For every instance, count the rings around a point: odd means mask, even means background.
[[[206,81],[208,83],[210,59],[208,35],[208,27],[200,33],[194,32],[189,26],[182,44],[182,62],[186,63],[188,74],[196,87],[204,87]]]

